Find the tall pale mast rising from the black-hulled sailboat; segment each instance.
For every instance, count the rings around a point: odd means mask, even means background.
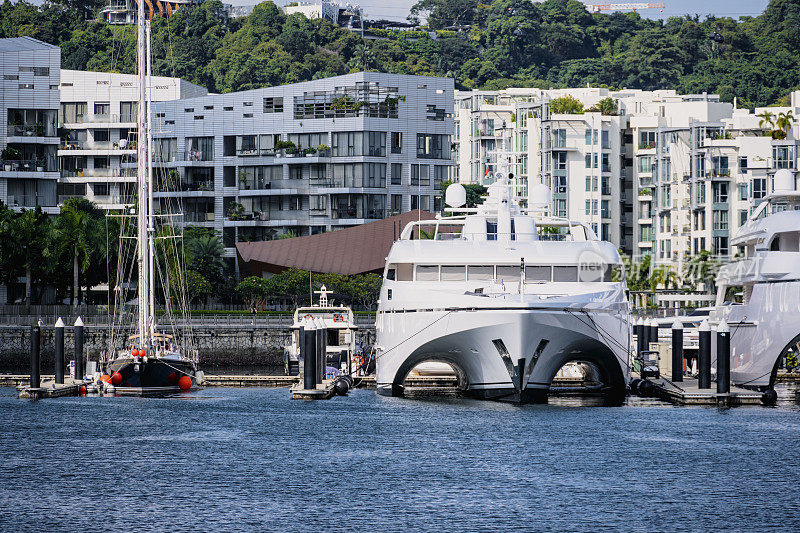
[[[145,347],[149,344],[148,338],[148,323],[150,318],[149,304],[150,300],[147,296],[147,287],[149,275],[148,267],[150,265],[147,260],[147,213],[149,197],[147,194],[147,150],[146,150],[146,123],[145,123],[145,32],[144,32],[144,2],[139,2],[139,11],[137,18],[137,38],[136,38],[136,56],[137,56],[137,73],[139,75],[139,101],[136,112],[136,184],[137,184],[137,197],[138,207],[136,209],[136,251],[137,251],[137,265],[139,267],[138,278],[138,295],[139,302],[139,346]]]

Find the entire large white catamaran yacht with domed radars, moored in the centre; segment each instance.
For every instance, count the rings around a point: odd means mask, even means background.
[[[503,172],[485,202],[412,222],[386,259],[376,317],[378,392],[402,396],[427,361],[450,364],[469,395],[546,401],[565,364],[594,371],[613,402],[629,381],[630,310],[617,249],[582,223],[546,216],[550,191],[522,208]]]

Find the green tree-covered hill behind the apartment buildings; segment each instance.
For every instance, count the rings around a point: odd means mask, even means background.
[[[0,37],[62,47],[65,68],[132,72],[135,28],[93,21],[105,2],[0,5]],[[800,87],[800,0],[758,17],[590,14],[575,0],[420,0],[429,33],[374,30],[285,16],[272,2],[230,19],[219,0],[153,20],[154,71],[227,92],[381,70],[448,75],[462,88],[673,88],[716,92],[742,106],[786,102]]]

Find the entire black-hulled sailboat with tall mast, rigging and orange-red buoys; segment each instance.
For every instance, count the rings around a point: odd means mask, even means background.
[[[107,392],[116,394],[157,394],[187,391],[196,387],[202,379],[197,369],[197,350],[184,345],[191,335],[184,330],[178,335],[161,332],[155,320],[155,275],[156,275],[156,222],[153,205],[153,139],[150,65],[150,21],[145,20],[144,2],[139,2],[137,59],[139,75],[139,112],[137,113],[137,206],[127,219],[135,218],[135,240],[137,280],[137,315],[135,333],[128,336],[123,348],[115,346],[117,335],[115,323],[111,326],[110,347],[101,361],[104,371],[101,381]],[[146,142],[141,142],[146,139]],[[120,236],[120,249],[125,238]],[[123,254],[120,253],[120,257]],[[123,263],[117,268],[116,307],[125,316],[125,298],[122,279],[125,279]],[[162,283],[163,285],[163,283]],[[169,306],[169,295],[166,296]],[[188,328],[188,324],[187,324]],[[183,339],[183,340],[181,340]]]

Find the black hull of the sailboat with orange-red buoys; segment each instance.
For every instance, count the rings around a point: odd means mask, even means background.
[[[188,375],[194,383],[196,370],[194,363],[185,360],[148,358],[144,361],[130,357],[110,361],[105,368],[110,376],[114,372],[119,372],[122,376],[122,381],[116,386],[117,390],[142,389],[142,392],[165,387],[179,390],[178,379]]]

